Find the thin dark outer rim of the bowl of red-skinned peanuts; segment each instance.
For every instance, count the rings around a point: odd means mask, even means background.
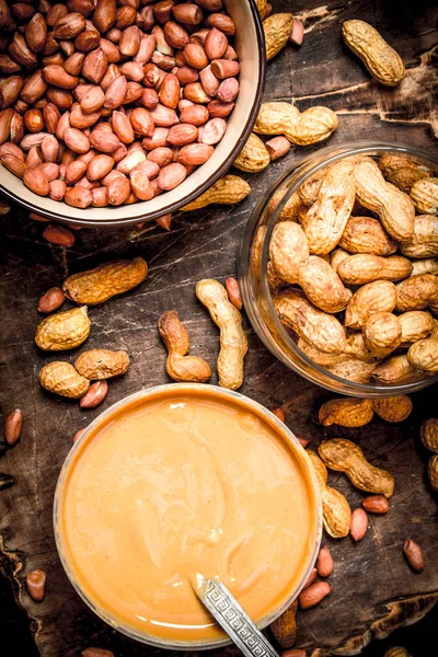
[[[41,215],[42,217],[50,219],[51,221],[57,221],[59,223],[65,223],[65,224],[70,224],[70,226],[81,226],[81,227],[90,227],[90,228],[96,228],[96,229],[101,228],[101,227],[105,227],[105,228],[113,227],[114,228],[114,227],[123,227],[123,226],[132,226],[135,223],[140,223],[140,222],[149,223],[150,221],[153,221],[154,219],[158,219],[165,215],[175,212],[176,210],[181,209],[183,206],[188,205],[189,203],[195,200],[195,198],[197,198],[198,196],[204,194],[204,192],[206,192],[209,187],[211,187],[211,185],[214,185],[220,177],[222,177],[227,173],[227,171],[232,166],[232,163],[234,162],[235,158],[238,157],[238,154],[240,153],[240,151],[246,143],[246,141],[252,132],[252,129],[254,127],[255,120],[258,115],[258,110],[260,110],[262,101],[263,101],[263,93],[264,93],[265,81],[266,81],[265,34],[264,34],[264,30],[263,30],[262,19],[261,19],[261,15],[260,15],[257,7],[256,7],[256,0],[246,0],[246,2],[249,4],[251,13],[252,13],[256,39],[257,39],[257,49],[258,49],[258,67],[257,67],[258,68],[258,80],[257,80],[257,87],[255,90],[255,101],[254,101],[253,106],[250,110],[250,114],[249,114],[247,120],[243,127],[243,130],[241,132],[241,136],[240,136],[239,140],[235,142],[234,147],[231,149],[230,153],[222,161],[222,163],[218,166],[218,169],[216,169],[216,171],[214,173],[211,173],[211,175],[209,175],[208,178],[204,183],[199,184],[195,189],[193,189],[191,193],[186,194],[186,196],[184,196],[184,198],[182,198],[180,200],[174,200],[173,203],[169,203],[164,207],[162,207],[158,210],[153,210],[153,211],[149,212],[148,215],[145,215],[145,212],[140,209],[143,206],[143,204],[148,203],[146,200],[146,201],[140,201],[140,203],[134,203],[130,206],[127,206],[129,208],[138,207],[139,209],[137,210],[136,215],[130,215],[129,217],[126,217],[123,219],[83,219],[80,217],[80,215],[78,216],[78,218],[71,218],[71,217],[64,215],[62,211],[53,212],[51,210],[45,210],[38,204],[33,204],[27,200],[24,200],[23,198],[20,197],[20,195],[11,192],[0,182],[1,193],[4,194],[4,196],[7,198],[9,198],[10,200],[12,200],[14,203],[18,203],[19,205],[24,207],[30,212]],[[44,197],[42,197],[42,196],[37,196],[34,193],[32,193],[32,194],[35,198],[44,199]],[[60,206],[60,208],[62,208],[64,201],[60,201],[59,206]],[[108,206],[106,208],[102,208],[102,209],[108,210],[108,208],[111,209],[111,206]],[[80,208],[78,208],[78,211],[80,212]]]

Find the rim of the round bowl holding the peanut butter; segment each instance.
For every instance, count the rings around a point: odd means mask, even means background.
[[[269,613],[266,616],[264,616],[257,623],[257,627],[260,630],[264,630],[267,625],[269,625],[278,616],[280,616],[281,613],[284,613],[286,611],[286,609],[291,604],[291,602],[298,598],[299,592],[301,591],[302,587],[304,586],[306,581],[308,580],[308,578],[310,576],[312,568],[314,567],[314,562],[316,560],[318,552],[319,552],[320,545],[321,545],[321,540],[322,540],[322,529],[323,529],[322,498],[321,498],[321,491],[320,491],[320,486],[318,483],[318,477],[316,477],[315,471],[313,469],[313,465],[311,463],[309,456],[307,454],[307,451],[304,450],[302,445],[299,442],[298,438],[295,436],[295,434],[291,431],[291,429],[289,429],[289,427],[284,422],[281,422],[276,415],[274,415],[272,413],[272,411],[266,408],[266,406],[264,406],[260,402],[256,402],[255,400],[252,400],[251,397],[249,397],[240,392],[237,392],[234,390],[229,390],[226,388],[220,388],[219,385],[212,385],[212,384],[208,384],[208,383],[164,383],[162,385],[153,385],[151,388],[142,388],[141,390],[138,390],[137,392],[134,392],[134,393],[123,397],[118,402],[115,402],[108,408],[106,408],[105,411],[100,413],[97,415],[97,417],[95,417],[88,425],[88,427],[85,428],[85,431],[82,434],[82,436],[79,438],[79,440],[77,440],[71,446],[70,451],[68,452],[68,454],[62,463],[61,470],[59,472],[55,493],[54,493],[54,507],[53,507],[53,529],[54,529],[54,535],[55,535],[55,544],[56,544],[56,549],[57,549],[58,556],[61,562],[64,572],[66,573],[74,591],[82,599],[82,601],[85,602],[85,604],[89,607],[89,609],[91,609],[101,620],[103,620],[111,627],[113,627],[113,630],[117,630],[122,634],[125,634],[129,638],[134,638],[140,643],[151,645],[154,647],[160,647],[160,648],[168,648],[168,649],[173,649],[173,650],[214,649],[214,648],[231,645],[232,642],[228,637],[211,639],[208,642],[203,642],[203,641],[172,642],[172,641],[160,639],[159,637],[154,637],[153,635],[147,635],[146,633],[141,633],[139,631],[136,631],[136,630],[129,629],[125,625],[122,625],[111,614],[107,614],[103,610],[101,610],[96,604],[93,603],[93,601],[90,598],[88,598],[88,596],[81,589],[81,586],[77,581],[73,570],[70,568],[66,553],[64,551],[62,539],[60,535],[60,531],[58,529],[58,527],[59,527],[58,518],[59,518],[59,511],[60,511],[60,506],[61,506],[60,499],[61,499],[61,493],[62,493],[62,488],[64,488],[65,481],[66,481],[66,474],[68,473],[69,466],[73,460],[76,452],[79,450],[80,445],[87,440],[88,436],[90,434],[92,434],[93,430],[102,424],[102,422],[105,422],[106,418],[115,416],[117,414],[117,412],[119,410],[122,410],[125,405],[129,405],[129,403],[132,403],[137,400],[138,401],[141,401],[141,400],[147,401],[151,396],[152,397],[154,395],[159,396],[160,393],[162,393],[163,391],[166,391],[170,395],[177,391],[180,391],[183,394],[184,394],[184,392],[187,392],[187,394],[189,394],[191,392],[209,391],[212,395],[215,395],[219,400],[221,397],[228,397],[231,401],[234,400],[235,402],[245,405],[250,410],[253,408],[255,413],[264,416],[266,420],[268,420],[272,425],[274,425],[274,427],[278,430],[278,434],[283,437],[285,442],[287,445],[291,446],[293,448],[295,452],[298,454],[299,462],[300,462],[301,466],[306,468],[307,475],[309,476],[309,480],[312,483],[312,495],[313,495],[313,503],[314,503],[314,509],[315,509],[314,533],[313,533],[312,542],[311,542],[311,551],[309,553],[310,556],[308,560],[307,567],[303,570],[302,577],[301,577],[299,584],[292,590],[292,593],[287,598],[287,600],[284,602],[284,604],[280,608],[278,608],[274,611],[274,613]]]

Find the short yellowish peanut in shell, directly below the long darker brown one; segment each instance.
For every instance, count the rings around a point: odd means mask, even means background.
[[[48,315],[37,326],[35,342],[44,351],[79,347],[90,335],[87,306]]]

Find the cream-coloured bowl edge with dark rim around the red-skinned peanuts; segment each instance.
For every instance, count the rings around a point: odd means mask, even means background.
[[[255,0],[224,0],[224,7],[239,26],[235,49],[240,58],[240,93],[228,119],[227,132],[217,145],[211,158],[198,166],[171,192],[151,200],[105,208],[79,209],[42,197],[0,165],[0,191],[11,200],[48,219],[73,226],[129,226],[152,221],[187,205],[230,169],[253,129],[262,102],[265,84],[266,57],[262,21]]]

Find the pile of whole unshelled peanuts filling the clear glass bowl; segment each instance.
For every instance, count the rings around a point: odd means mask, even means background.
[[[266,119],[276,122],[275,107]],[[285,205],[269,243],[266,274],[281,323],[308,357],[361,383],[438,371],[428,312],[438,307],[438,218],[415,215],[407,194],[423,183],[434,189],[435,178],[394,158],[355,155],[318,171]],[[395,186],[384,175],[401,166]]]

